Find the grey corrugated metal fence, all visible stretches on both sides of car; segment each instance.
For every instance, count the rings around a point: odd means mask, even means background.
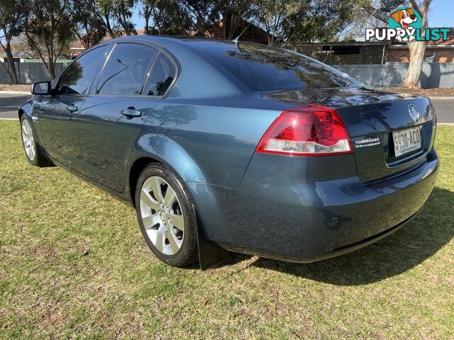
[[[60,74],[70,62],[59,62],[55,72]],[[2,63],[6,67],[6,63]],[[404,62],[388,62],[383,65],[333,65],[341,72],[349,74],[362,83],[370,86],[401,86],[409,64]],[[32,84],[35,81],[49,79],[49,72],[42,62],[16,62],[16,72],[21,84]],[[9,84],[8,75],[0,65],[0,84]],[[421,87],[453,88],[454,63],[424,63],[420,79]]]

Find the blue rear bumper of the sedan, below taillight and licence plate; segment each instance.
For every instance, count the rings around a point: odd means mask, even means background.
[[[433,149],[416,169],[370,186],[349,172],[353,156],[276,157],[255,154],[236,190],[190,185],[207,238],[284,261],[338,256],[402,227],[426,203],[438,172]]]

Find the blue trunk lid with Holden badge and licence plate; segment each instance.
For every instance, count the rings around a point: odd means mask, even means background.
[[[351,138],[358,177],[365,183],[414,169],[433,145],[436,124],[428,98],[358,87],[279,91],[267,97],[336,109]]]

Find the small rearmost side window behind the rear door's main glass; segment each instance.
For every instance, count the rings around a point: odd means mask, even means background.
[[[177,69],[169,58],[160,53],[157,56],[157,60],[151,69],[150,78],[148,78],[147,86],[143,94],[147,96],[164,96],[165,91],[172,84],[175,79]]]

